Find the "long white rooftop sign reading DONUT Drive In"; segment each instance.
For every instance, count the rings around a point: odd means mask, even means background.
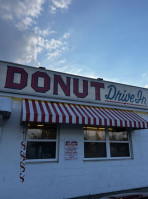
[[[148,110],[145,88],[3,61],[0,69],[0,92]]]

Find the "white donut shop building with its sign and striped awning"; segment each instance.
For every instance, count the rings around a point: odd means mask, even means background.
[[[148,186],[148,90],[0,62],[0,198]]]

